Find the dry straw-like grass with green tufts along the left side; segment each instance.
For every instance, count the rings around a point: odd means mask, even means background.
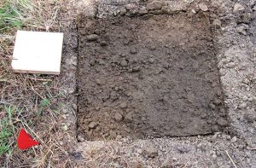
[[[60,109],[67,102],[59,77],[17,74],[10,68],[16,30],[58,32],[64,3],[58,0],[0,1],[0,167],[69,165],[65,148],[59,141],[63,136]],[[7,122],[3,123],[4,120]],[[41,145],[20,151],[16,138],[21,127]]]

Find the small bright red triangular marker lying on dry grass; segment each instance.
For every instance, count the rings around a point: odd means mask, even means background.
[[[27,148],[32,148],[33,146],[38,145],[39,142],[32,140],[32,137],[28,135],[23,128],[21,128],[17,144],[20,150],[26,150]]]

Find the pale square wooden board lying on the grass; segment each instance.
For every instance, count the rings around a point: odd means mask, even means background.
[[[18,31],[12,68],[15,72],[60,74],[63,33]]]

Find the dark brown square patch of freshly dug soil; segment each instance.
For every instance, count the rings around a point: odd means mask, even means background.
[[[204,14],[79,19],[78,133],[204,135],[228,124]]]

